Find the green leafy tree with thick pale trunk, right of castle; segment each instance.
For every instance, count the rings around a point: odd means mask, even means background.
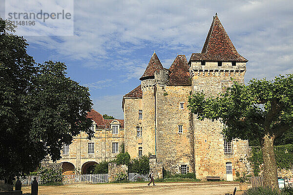
[[[292,130],[293,75],[274,80],[252,79],[248,85],[237,82],[218,97],[195,93],[188,99],[189,110],[203,120],[220,120],[228,139],[258,138],[263,152],[265,185],[278,188],[273,143]]]

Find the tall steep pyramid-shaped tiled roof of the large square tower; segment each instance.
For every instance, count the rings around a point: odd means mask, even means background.
[[[217,14],[214,16],[202,52],[193,53],[191,60],[248,61],[238,54]]]

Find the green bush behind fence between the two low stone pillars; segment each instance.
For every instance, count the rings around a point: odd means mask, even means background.
[[[148,156],[140,156],[139,158],[131,159],[128,164],[128,173],[149,173],[149,158]]]

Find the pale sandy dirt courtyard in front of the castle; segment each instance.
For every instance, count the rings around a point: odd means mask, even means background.
[[[147,186],[147,183],[79,184],[39,186],[39,195],[225,195],[238,186],[235,182],[164,182],[156,186]],[[31,188],[22,187],[22,191],[30,193]]]

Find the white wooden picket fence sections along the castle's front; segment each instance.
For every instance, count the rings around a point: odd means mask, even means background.
[[[40,184],[41,176],[26,176],[20,177],[22,186],[30,186],[37,177],[37,181]],[[96,183],[108,183],[108,174],[83,174],[83,175],[63,175],[62,183],[68,184],[96,184]],[[148,181],[148,174],[128,173],[129,181]]]

